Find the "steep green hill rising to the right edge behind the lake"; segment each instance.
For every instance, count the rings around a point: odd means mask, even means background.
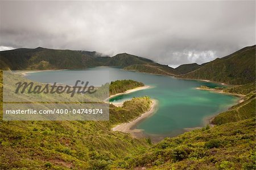
[[[255,82],[255,45],[246,47],[180,76],[241,85]]]

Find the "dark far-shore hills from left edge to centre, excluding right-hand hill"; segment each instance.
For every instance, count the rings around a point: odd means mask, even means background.
[[[2,70],[44,70],[44,69],[83,69],[88,67],[109,66],[129,67],[130,65],[148,65],[148,67],[130,67],[139,72],[155,74],[178,74],[167,65],[157,64],[143,57],[121,53],[113,57],[97,52],[72,51],[46,48],[19,48],[0,52],[0,69]]]

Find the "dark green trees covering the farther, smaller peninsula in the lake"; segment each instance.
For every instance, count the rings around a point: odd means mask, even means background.
[[[118,93],[124,93],[126,90],[134,89],[144,86],[142,82],[134,80],[116,80],[110,82],[109,85],[109,94],[114,95]]]

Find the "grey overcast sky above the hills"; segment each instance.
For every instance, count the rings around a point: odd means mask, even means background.
[[[255,44],[255,1],[0,2],[0,50],[131,53],[176,67]]]

